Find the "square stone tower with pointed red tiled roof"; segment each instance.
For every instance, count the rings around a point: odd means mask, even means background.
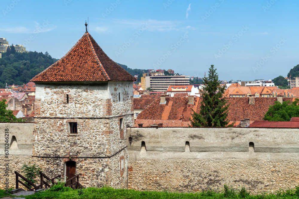
[[[36,83],[32,153],[43,172],[67,179],[79,174],[84,187],[125,187],[135,78],[86,31],[31,81]]]

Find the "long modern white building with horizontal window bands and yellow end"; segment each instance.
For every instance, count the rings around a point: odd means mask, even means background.
[[[176,76],[151,76],[151,74],[144,73],[141,77],[141,87],[146,90],[148,87],[154,92],[167,91],[169,85],[188,85],[190,84],[190,77],[186,75]]]

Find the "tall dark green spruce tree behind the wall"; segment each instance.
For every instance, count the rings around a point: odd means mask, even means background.
[[[209,69],[208,77],[203,78],[205,87],[202,92],[202,102],[200,112],[193,109],[192,127],[227,127],[228,101],[223,97],[225,88],[221,87],[214,65]],[[232,124],[229,127],[233,126]]]

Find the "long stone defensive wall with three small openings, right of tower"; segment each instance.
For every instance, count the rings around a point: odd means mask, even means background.
[[[298,185],[298,129],[128,128],[129,188],[190,192]]]

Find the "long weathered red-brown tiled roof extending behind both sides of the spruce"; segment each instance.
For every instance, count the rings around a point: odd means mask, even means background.
[[[295,98],[283,98],[283,101],[294,101]],[[166,97],[166,104],[160,104],[160,98],[139,113],[137,119],[150,120],[181,120],[189,121],[193,109],[200,111],[202,97],[194,98],[193,104],[188,104],[187,97]],[[240,121],[250,118],[250,121],[262,121],[264,115],[277,98],[255,98],[254,104],[249,104],[249,98],[228,98],[230,103],[228,120]]]

